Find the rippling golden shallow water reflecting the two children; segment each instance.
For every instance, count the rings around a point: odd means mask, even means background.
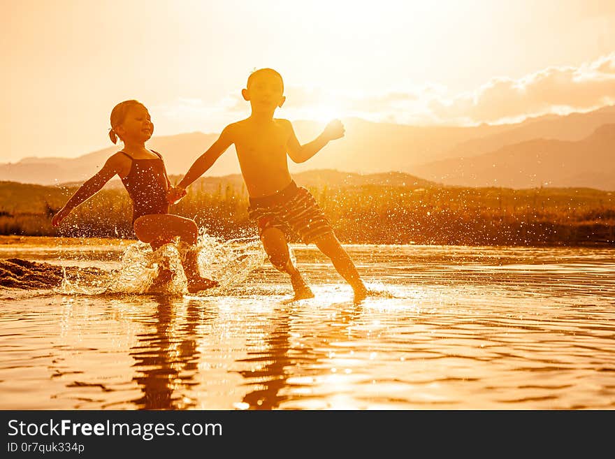
[[[37,244],[0,258],[121,272],[132,247]],[[293,247],[310,300],[253,245],[201,296],[3,289],[0,407],[615,408],[614,249],[347,246],[372,291],[354,305]]]

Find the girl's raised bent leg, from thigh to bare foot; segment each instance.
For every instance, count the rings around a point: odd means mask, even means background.
[[[189,249],[182,256],[182,266],[188,279],[188,291],[190,293],[218,285],[216,281],[201,277],[198,272],[198,249],[194,247],[198,228],[194,220],[173,214],[143,215],[134,222],[134,231],[139,240],[149,242],[154,250],[171,242],[178,236],[180,240],[189,245]]]

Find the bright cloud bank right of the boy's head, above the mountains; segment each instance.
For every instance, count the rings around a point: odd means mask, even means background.
[[[425,85],[381,94],[327,94],[292,87],[284,109],[298,117],[333,105],[341,116],[402,124],[480,124],[512,122],[586,111],[615,103],[615,52],[580,66],[551,66],[523,78],[493,78],[475,91],[449,94]]]

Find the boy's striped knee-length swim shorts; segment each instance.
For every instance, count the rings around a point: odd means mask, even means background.
[[[250,198],[247,211],[257,222],[259,235],[267,228],[278,228],[287,236],[299,235],[307,244],[333,233],[314,196],[295,182],[271,196]]]

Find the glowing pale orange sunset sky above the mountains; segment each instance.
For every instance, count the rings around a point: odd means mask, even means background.
[[[615,1],[1,0],[0,162],[110,146],[124,99],[155,135],[249,114],[254,68],[289,119],[477,124],[615,103]],[[302,139],[300,139],[302,140]]]

